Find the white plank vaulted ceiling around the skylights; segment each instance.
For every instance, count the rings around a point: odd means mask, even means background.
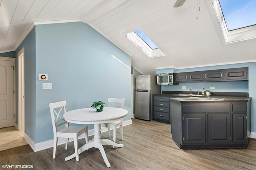
[[[0,53],[15,51],[34,24],[82,21],[130,55],[143,74],[256,61],[255,39],[225,43],[211,1],[173,8],[176,0],[0,0]],[[125,35],[137,29],[166,56],[149,58],[129,41]]]

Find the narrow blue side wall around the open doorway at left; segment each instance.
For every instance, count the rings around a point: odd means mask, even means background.
[[[36,29],[30,31],[16,50],[24,48],[24,124],[25,132],[32,140],[36,139]],[[18,68],[18,62],[16,62]],[[16,92],[18,92],[18,69],[16,69]],[[16,93],[16,123],[18,124],[18,93]]]

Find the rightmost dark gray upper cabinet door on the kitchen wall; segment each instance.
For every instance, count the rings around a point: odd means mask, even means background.
[[[226,80],[248,80],[248,68],[232,68],[225,72]]]

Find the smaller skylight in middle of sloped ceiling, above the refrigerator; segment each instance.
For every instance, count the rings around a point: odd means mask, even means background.
[[[165,54],[140,29],[128,33],[126,37],[150,58],[165,56]]]

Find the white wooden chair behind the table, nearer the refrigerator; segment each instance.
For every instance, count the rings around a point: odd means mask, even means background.
[[[108,98],[108,107],[124,108],[124,98]],[[110,138],[110,128],[113,128],[113,141],[116,142],[116,128],[120,126],[121,139],[123,140],[123,120],[102,123],[101,127],[108,128],[108,136]],[[115,148],[113,146],[113,148]]]

